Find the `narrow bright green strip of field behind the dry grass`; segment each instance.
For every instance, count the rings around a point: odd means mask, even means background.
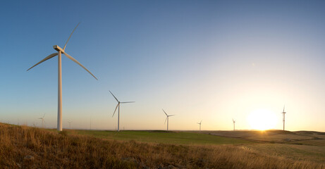
[[[196,132],[165,132],[165,131],[96,131],[71,130],[71,133],[88,135],[102,139],[135,140],[137,142],[153,142],[164,144],[250,144],[243,139],[219,137]]]

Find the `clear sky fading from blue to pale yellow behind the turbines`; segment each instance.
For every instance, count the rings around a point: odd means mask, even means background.
[[[56,128],[325,132],[324,1],[4,1],[0,122]],[[266,115],[263,115],[265,112]],[[270,116],[271,115],[271,116]],[[252,116],[256,117],[253,118]],[[269,118],[272,117],[272,118]]]

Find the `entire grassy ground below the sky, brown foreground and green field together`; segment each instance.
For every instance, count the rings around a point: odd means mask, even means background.
[[[209,133],[209,134],[208,134]],[[56,132],[0,123],[1,168],[325,168],[312,132]],[[214,134],[218,134],[216,136]],[[221,135],[223,134],[223,135]],[[264,135],[264,139],[260,138]],[[281,137],[276,137],[280,134]],[[241,135],[241,137],[239,137]],[[267,138],[266,136],[271,138]],[[295,139],[288,139],[295,135]],[[299,135],[301,140],[297,140]],[[314,136],[310,137],[309,136]],[[317,137],[317,138],[316,138]],[[307,145],[317,139],[318,145]],[[306,144],[304,143],[306,142]],[[298,144],[297,144],[298,143]]]

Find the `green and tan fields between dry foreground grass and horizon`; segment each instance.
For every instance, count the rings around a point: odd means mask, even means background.
[[[284,133],[278,131],[266,132],[225,132],[225,136],[217,136],[214,134],[198,133],[198,132],[166,132],[166,131],[98,131],[98,130],[70,130],[71,134],[87,135],[102,139],[122,140],[147,143],[164,143],[164,144],[192,144],[192,145],[221,145],[234,144],[242,147],[246,151],[252,151],[265,156],[281,156],[282,158],[290,158],[295,161],[325,161],[324,140],[318,140],[320,145],[312,145],[308,140],[298,142],[283,142],[283,144],[271,144],[275,141],[283,141],[283,139],[307,138],[309,135],[298,135],[293,132]],[[234,137],[231,137],[233,134]],[[314,135],[314,134],[312,134]],[[240,138],[238,138],[240,136]],[[245,140],[246,138],[248,140]],[[268,142],[253,142],[265,140]],[[262,139],[261,139],[262,138]],[[252,139],[252,141],[250,141]]]

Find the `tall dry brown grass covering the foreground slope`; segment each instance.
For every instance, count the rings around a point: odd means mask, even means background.
[[[0,124],[0,168],[267,169],[325,168],[325,165],[259,154],[245,146],[119,142]]]

